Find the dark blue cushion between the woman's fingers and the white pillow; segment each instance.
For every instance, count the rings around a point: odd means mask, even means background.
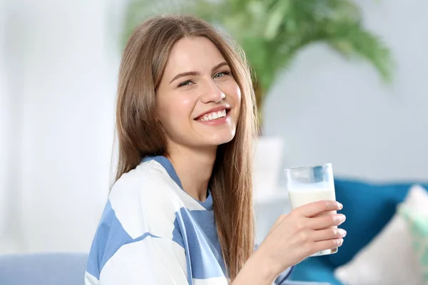
[[[335,179],[336,199],[343,204],[341,212],[347,216],[341,226],[346,229],[347,237],[339,252],[317,258],[330,262],[333,267],[350,261],[392,218],[397,204],[404,200],[413,184]]]

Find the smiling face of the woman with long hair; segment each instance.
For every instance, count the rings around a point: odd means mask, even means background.
[[[175,43],[156,96],[168,143],[210,147],[235,136],[240,88],[208,38],[182,38]]]

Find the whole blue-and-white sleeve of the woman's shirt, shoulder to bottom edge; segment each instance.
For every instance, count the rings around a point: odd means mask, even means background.
[[[175,229],[175,200],[152,175],[124,175],[111,190],[89,254],[86,285],[187,285]],[[143,176],[145,177],[145,176]]]

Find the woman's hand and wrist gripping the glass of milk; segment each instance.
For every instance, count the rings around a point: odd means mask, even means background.
[[[280,216],[255,252],[258,261],[277,276],[316,252],[340,247],[346,232],[335,226],[345,222],[345,215],[328,213],[339,209],[338,202],[320,201]]]

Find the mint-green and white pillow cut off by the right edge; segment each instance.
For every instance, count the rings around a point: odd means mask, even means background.
[[[427,204],[428,206],[428,204]],[[399,214],[404,217],[412,236],[414,254],[420,264],[425,284],[428,284],[428,214],[412,209],[407,205],[399,207]]]

